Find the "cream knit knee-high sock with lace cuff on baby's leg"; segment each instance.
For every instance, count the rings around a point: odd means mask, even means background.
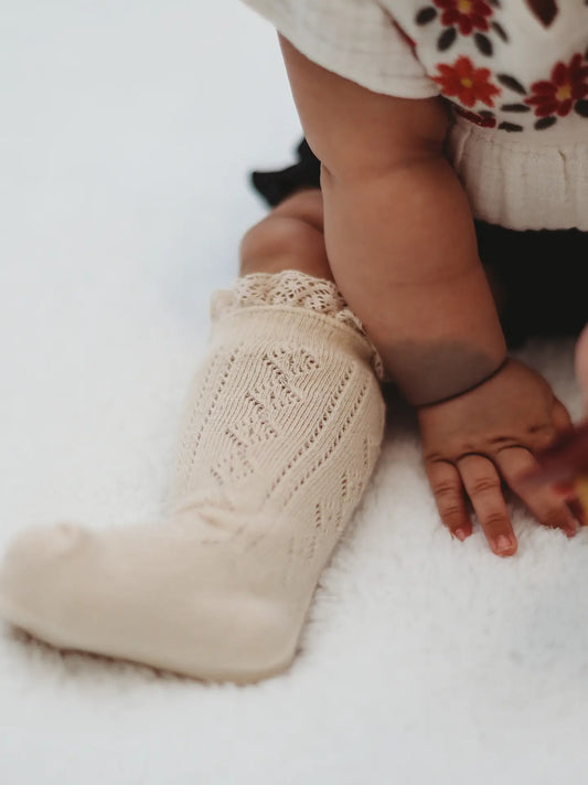
[[[213,301],[164,523],[34,527],[0,613],[64,648],[206,680],[288,667],[378,454],[377,356],[334,284],[287,270]]]

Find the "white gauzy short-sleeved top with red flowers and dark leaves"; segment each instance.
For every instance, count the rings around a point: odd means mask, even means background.
[[[588,3],[245,0],[307,57],[377,93],[442,96],[475,218],[588,231]]]

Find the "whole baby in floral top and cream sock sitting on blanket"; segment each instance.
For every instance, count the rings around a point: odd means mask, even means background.
[[[469,500],[515,553],[503,484],[568,537],[586,522],[575,492],[524,480],[571,422],[507,343],[520,314],[530,333],[586,321],[588,8],[247,2],[279,31],[320,188],[277,200],[214,296],[165,524],[28,529],[0,570],[2,615],[54,645],[236,682],[295,656],[377,459],[383,380],[453,537]],[[588,339],[577,358],[588,391]]]

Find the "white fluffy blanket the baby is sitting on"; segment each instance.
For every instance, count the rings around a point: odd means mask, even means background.
[[[3,549],[160,515],[210,294],[265,214],[247,170],[286,166],[300,129],[275,33],[236,0],[1,18]],[[525,358],[577,417],[571,344]],[[451,541],[393,412],[291,670],[211,687],[0,624],[0,782],[586,783],[588,535],[512,509],[514,559]]]

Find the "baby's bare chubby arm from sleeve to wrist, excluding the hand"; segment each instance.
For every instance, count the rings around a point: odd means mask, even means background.
[[[387,370],[418,405],[491,375],[506,353],[438,98],[366,91],[284,39],[307,139],[322,161],[333,276]]]

